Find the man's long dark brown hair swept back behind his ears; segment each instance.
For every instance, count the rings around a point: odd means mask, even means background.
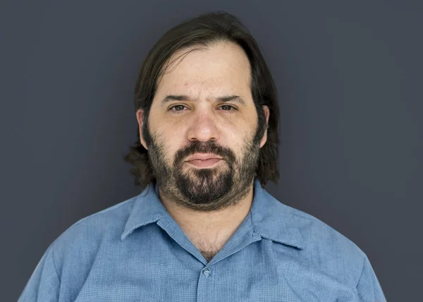
[[[149,109],[152,106],[154,93],[157,90],[159,78],[169,65],[168,60],[179,49],[203,45],[214,42],[233,42],[243,48],[251,65],[252,98],[259,118],[259,124],[264,123],[261,134],[266,131],[266,119],[263,105],[269,107],[269,128],[267,141],[259,151],[256,177],[264,187],[267,181],[278,183],[278,145],[279,145],[279,107],[276,87],[269,68],[259,50],[256,40],[252,37],[240,20],[226,12],[206,13],[196,18],[186,20],[168,30],[154,44],[142,62],[140,73],[135,84],[134,105],[135,112],[143,109],[142,136],[146,138]],[[130,146],[130,152],[123,158],[132,164],[130,174],[135,176],[135,186],[145,188],[155,181],[147,150],[140,143],[140,132],[137,127],[137,141]]]

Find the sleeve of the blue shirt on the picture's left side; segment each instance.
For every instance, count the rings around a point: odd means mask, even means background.
[[[60,279],[54,263],[53,243],[39,260],[18,302],[59,301]]]

